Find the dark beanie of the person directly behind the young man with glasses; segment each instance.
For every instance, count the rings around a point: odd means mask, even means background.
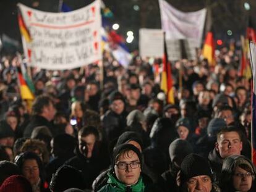
[[[139,135],[139,133],[136,133],[134,131],[126,131],[122,133],[122,135],[119,136],[116,142],[116,146],[124,143],[129,143],[129,141],[136,141],[137,143],[140,144],[141,148],[143,146],[141,136]]]

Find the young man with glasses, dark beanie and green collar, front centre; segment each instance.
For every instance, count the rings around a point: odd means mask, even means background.
[[[142,181],[142,154],[132,144],[121,144],[113,151],[112,169],[108,173],[108,184],[104,191],[147,191]]]

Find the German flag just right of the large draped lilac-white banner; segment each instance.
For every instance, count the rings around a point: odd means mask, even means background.
[[[211,67],[215,66],[215,41],[212,31],[208,31],[205,38],[205,44],[203,45],[203,57],[208,60]]]

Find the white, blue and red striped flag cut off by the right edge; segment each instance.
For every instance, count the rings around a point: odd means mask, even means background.
[[[256,165],[256,45],[250,43],[250,64],[252,68],[252,127],[251,127],[251,143],[252,143],[252,162]]]

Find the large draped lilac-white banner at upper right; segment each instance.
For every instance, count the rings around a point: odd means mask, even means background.
[[[188,59],[196,57],[196,48],[200,48],[203,36],[203,26],[207,10],[182,12],[164,0],[159,0],[161,13],[161,28],[166,33],[166,44],[169,56],[172,54],[169,47],[177,46],[177,40],[185,40],[184,46]],[[176,59],[171,59],[176,60]]]

